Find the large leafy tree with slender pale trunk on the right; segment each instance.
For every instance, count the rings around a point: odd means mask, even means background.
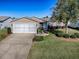
[[[53,15],[58,22],[63,21],[65,23],[66,33],[68,33],[68,21],[75,21],[79,14],[78,0],[58,0],[57,6],[54,9]]]

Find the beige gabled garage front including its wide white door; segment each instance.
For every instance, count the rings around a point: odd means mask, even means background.
[[[39,23],[30,18],[20,18],[12,21],[12,33],[37,33]]]

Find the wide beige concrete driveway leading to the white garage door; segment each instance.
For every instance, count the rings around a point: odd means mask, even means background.
[[[34,34],[11,34],[0,42],[0,59],[27,59]]]

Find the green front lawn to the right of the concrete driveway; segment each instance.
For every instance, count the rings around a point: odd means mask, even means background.
[[[33,43],[28,59],[79,59],[79,42],[65,42],[50,34]]]

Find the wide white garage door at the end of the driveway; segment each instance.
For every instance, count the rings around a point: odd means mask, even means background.
[[[36,33],[37,27],[35,23],[18,23],[13,24],[12,31],[13,33]]]

